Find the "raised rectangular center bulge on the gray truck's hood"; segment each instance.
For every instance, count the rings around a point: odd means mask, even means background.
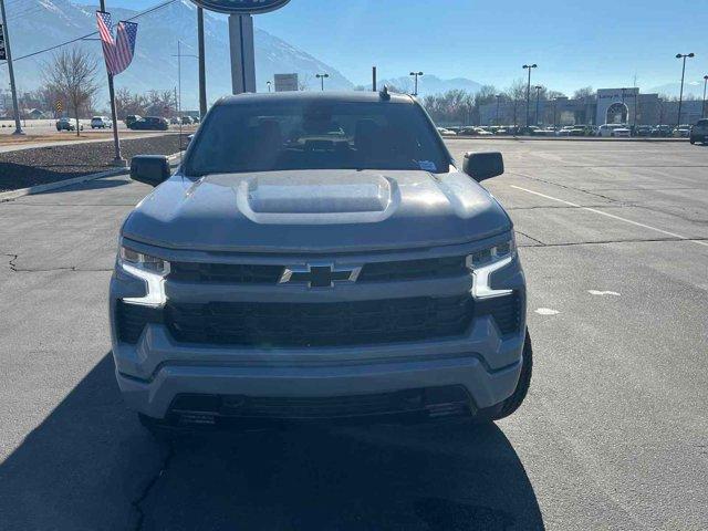
[[[248,204],[256,214],[383,212],[391,183],[381,175],[259,176],[248,181]]]

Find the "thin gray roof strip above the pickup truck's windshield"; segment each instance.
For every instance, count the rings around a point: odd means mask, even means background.
[[[325,102],[325,103],[413,103],[414,100],[408,94],[389,93],[391,98],[384,100],[378,92],[373,91],[347,91],[347,92],[261,92],[246,93],[235,96],[223,96],[217,105],[249,105],[254,103],[272,102]]]

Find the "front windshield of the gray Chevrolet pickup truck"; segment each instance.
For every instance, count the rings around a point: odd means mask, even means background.
[[[275,102],[216,107],[205,122],[188,175],[287,169],[425,169],[449,158],[415,105]]]

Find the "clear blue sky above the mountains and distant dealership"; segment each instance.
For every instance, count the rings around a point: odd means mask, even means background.
[[[144,9],[158,0],[107,0]],[[708,73],[708,0],[291,0],[256,25],[354,83],[412,69],[508,86],[535,62],[534,81],[644,90],[680,80],[676,53],[695,52],[688,81]]]

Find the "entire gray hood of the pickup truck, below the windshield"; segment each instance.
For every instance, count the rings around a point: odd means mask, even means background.
[[[125,238],[205,251],[345,252],[464,243],[511,229],[465,174],[296,170],[180,175],[131,212]]]

